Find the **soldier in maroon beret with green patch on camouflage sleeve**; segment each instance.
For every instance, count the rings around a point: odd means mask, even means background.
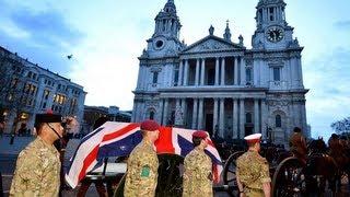
[[[159,161],[154,141],[159,138],[160,125],[154,120],[144,120],[140,129],[142,141],[129,155],[124,196],[154,197],[158,183]]]

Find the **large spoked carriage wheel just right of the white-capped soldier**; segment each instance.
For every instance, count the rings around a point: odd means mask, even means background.
[[[272,196],[303,196],[306,189],[303,167],[304,164],[298,158],[283,160],[272,177]]]

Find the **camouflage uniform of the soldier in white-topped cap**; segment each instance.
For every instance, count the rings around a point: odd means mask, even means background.
[[[267,160],[255,151],[247,151],[237,159],[236,176],[246,197],[264,196],[262,184],[271,182]]]

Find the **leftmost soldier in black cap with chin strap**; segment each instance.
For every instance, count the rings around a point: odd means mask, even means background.
[[[58,196],[61,163],[54,142],[63,136],[61,120],[60,115],[36,115],[38,137],[19,154],[10,196]]]

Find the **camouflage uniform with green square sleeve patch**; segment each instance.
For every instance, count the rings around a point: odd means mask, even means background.
[[[159,161],[153,144],[139,143],[128,159],[124,196],[155,196]]]

